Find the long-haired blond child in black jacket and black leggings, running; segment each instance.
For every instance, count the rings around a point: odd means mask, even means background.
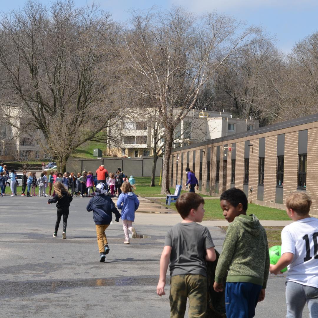
[[[65,186],[57,181],[54,183],[54,192],[55,196],[52,199],[49,199],[47,201],[47,204],[56,203],[56,207],[58,208],[57,211],[57,220],[55,223],[55,231],[53,233],[53,237],[56,237],[58,229],[59,229],[59,223],[61,221],[61,217],[63,215],[63,232],[62,237],[63,239],[66,239],[66,223],[69,213],[69,206],[70,203],[73,200],[73,197],[70,195],[70,193],[66,190]]]

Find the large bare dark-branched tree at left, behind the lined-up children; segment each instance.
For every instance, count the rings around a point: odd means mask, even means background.
[[[98,7],[75,8],[57,1],[47,9],[29,0],[23,9],[3,14],[0,30],[3,111],[23,117],[25,133],[43,133],[40,146],[61,172],[74,149],[100,138],[118,116],[112,61],[100,36],[110,14]],[[8,98],[6,98],[8,96]],[[21,125],[18,127],[23,130]]]

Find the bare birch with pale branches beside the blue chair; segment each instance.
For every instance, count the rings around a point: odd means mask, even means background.
[[[140,97],[151,96],[162,117],[165,146],[162,194],[169,192],[169,159],[176,126],[198,102],[198,95],[218,68],[261,34],[259,28],[215,12],[201,17],[172,7],[171,10],[132,11],[131,27],[122,30],[117,57],[135,82],[121,79]],[[177,110],[177,114],[174,114]]]

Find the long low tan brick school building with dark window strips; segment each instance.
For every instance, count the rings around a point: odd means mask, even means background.
[[[186,167],[202,194],[236,187],[250,203],[285,209],[291,191],[307,191],[318,216],[318,114],[172,149],[172,187],[187,182]]]

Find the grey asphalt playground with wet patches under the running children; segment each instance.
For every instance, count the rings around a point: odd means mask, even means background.
[[[130,239],[131,244],[125,245],[121,221],[114,222],[106,230],[110,252],[100,263],[88,201],[74,197],[67,239],[62,239],[62,224],[53,238],[56,207],[48,205],[47,198],[1,198],[1,317],[169,317],[169,271],[167,295],[159,297],[156,285],[165,233],[181,221],[180,216],[151,199],[141,199],[143,212],[136,213],[134,226],[140,237],[147,238]],[[222,222],[202,222],[219,252],[225,232],[216,225]],[[286,317],[284,275],[270,275],[255,317]],[[303,317],[309,317],[307,306]]]

